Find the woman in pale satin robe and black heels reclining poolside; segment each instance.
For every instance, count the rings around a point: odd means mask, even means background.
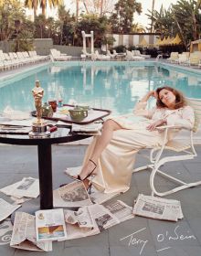
[[[156,106],[145,110],[147,101],[156,98]],[[143,148],[163,144],[163,135],[156,130],[161,125],[179,125],[192,128],[195,122],[194,110],[185,102],[180,91],[164,86],[156,91],[149,91],[139,101],[133,112],[149,120],[140,123],[128,123],[125,119],[109,118],[103,124],[100,136],[94,137],[86,152],[79,176],[89,187],[91,183],[105,193],[125,192],[129,189],[134,155]],[[168,134],[169,140],[175,131]]]

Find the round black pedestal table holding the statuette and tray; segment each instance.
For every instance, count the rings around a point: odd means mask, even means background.
[[[58,128],[46,138],[29,138],[28,134],[0,134],[1,144],[37,145],[40,209],[53,208],[52,144],[79,141],[90,135],[69,134],[69,129]]]

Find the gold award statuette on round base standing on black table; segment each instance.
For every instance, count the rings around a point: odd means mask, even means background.
[[[42,119],[42,98],[44,90],[40,87],[40,82],[36,80],[35,87],[32,89],[32,95],[35,101],[37,119],[32,124],[32,132],[29,133],[30,137],[46,137],[50,133],[47,131],[47,122]]]

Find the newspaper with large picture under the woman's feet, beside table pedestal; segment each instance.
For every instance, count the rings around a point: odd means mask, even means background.
[[[75,181],[53,191],[54,207],[77,208],[92,204],[84,183]]]

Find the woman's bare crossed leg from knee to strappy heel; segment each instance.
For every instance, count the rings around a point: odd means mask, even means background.
[[[92,160],[96,165],[102,151],[111,142],[113,132],[120,129],[122,129],[120,124],[112,121],[111,119],[107,120],[103,124],[102,133],[100,137],[98,137],[96,144],[94,146],[93,152],[90,155],[90,160]],[[95,170],[96,165],[94,165],[93,162],[88,161],[86,165],[82,167],[81,172],[79,174],[81,179],[84,179],[86,176],[88,176],[93,169],[94,169],[94,172],[92,174],[96,174],[96,170]]]

